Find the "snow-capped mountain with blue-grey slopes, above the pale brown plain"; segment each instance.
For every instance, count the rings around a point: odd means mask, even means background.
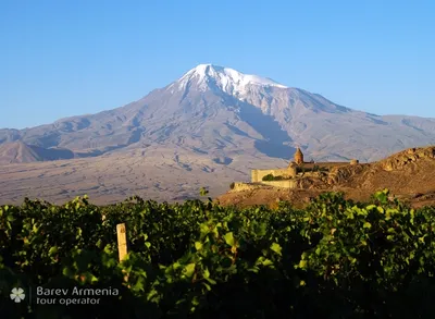
[[[435,120],[369,114],[266,77],[200,64],[122,108],[21,131],[0,130],[0,161],[10,161],[1,144],[16,140],[72,150],[76,157],[158,145],[211,158],[244,154],[288,159],[300,145],[315,160],[371,161],[435,144]]]

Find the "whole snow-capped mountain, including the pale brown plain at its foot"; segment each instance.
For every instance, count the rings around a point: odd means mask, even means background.
[[[50,180],[50,168],[60,170],[57,161],[50,161],[71,158],[69,164],[62,161],[62,168],[72,170],[66,174],[67,179],[74,177],[67,180],[71,187],[76,184],[74,191],[59,193],[59,198],[94,192],[113,199],[115,195],[140,192],[173,199],[197,195],[200,185],[209,185],[214,192],[211,195],[219,195],[232,180],[249,179],[250,169],[286,165],[297,146],[307,159],[315,161],[357,158],[368,162],[405,148],[433,144],[435,119],[365,113],[271,78],[200,64],[121,108],[25,130],[0,130],[0,163],[8,163],[0,170],[0,181],[7,181],[0,183],[0,198],[24,195],[13,191],[23,183],[13,182],[15,175],[20,172],[16,179],[24,181],[24,173],[11,167],[12,162],[47,162],[23,163],[36,179],[26,183],[40,185],[38,179],[44,176],[44,183],[50,185],[47,187],[53,193],[44,193],[44,185],[37,189],[41,196],[58,196],[57,185],[65,182],[59,177],[64,175],[60,171]],[[28,156],[13,155],[24,146]],[[133,168],[139,163],[136,172]],[[38,170],[44,172],[37,174]],[[84,187],[77,184],[85,179],[83,172],[87,172]],[[128,175],[133,172],[149,177],[136,181],[135,175]],[[124,183],[122,179],[135,182],[108,191],[104,187],[112,185],[111,179],[117,184]],[[175,180],[182,182],[171,182]]]

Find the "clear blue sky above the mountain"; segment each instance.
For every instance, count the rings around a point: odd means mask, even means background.
[[[435,118],[435,1],[0,1],[0,127],[122,107],[200,63]]]

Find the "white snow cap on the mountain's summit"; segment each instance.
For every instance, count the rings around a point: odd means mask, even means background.
[[[223,91],[235,96],[243,95],[250,85],[287,88],[271,78],[244,74],[229,68],[213,64],[199,64],[177,81],[179,89],[192,83],[196,83],[201,90],[210,86],[216,86]]]

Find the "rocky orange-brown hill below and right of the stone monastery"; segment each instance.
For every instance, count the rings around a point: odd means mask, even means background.
[[[347,198],[365,201],[376,191],[388,188],[391,195],[413,207],[435,205],[435,147],[407,149],[384,160],[333,169],[327,179],[313,181],[309,189],[260,189],[228,192],[216,198],[222,205],[247,207],[276,206],[289,200],[302,207],[321,193],[344,192]]]

